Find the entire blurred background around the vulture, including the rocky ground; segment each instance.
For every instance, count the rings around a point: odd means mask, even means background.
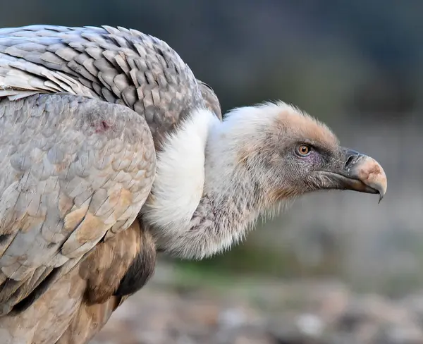
[[[231,252],[161,257],[92,343],[423,343],[422,17],[421,0],[7,1],[1,27],[159,37],[223,113],[293,103],[374,156],[389,180],[381,204],[307,196]]]

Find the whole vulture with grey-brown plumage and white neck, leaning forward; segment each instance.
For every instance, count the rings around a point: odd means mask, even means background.
[[[1,343],[87,343],[154,272],[202,259],[314,190],[386,192],[383,168],[282,102],[235,109],[161,40],[0,29]]]

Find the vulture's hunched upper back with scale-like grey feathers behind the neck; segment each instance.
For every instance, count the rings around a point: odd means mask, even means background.
[[[0,97],[40,92],[69,92],[128,106],[145,117],[156,144],[197,106],[208,106],[221,119],[216,94],[176,51],[123,27],[0,29]]]

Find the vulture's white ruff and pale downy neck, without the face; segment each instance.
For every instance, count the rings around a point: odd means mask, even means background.
[[[197,109],[168,135],[141,210],[161,250],[190,259],[227,250],[262,211],[285,203],[269,204],[261,190],[264,177],[247,175],[240,164],[244,154],[262,149],[255,136],[281,113],[299,121],[307,116],[282,102],[235,109],[223,122],[212,111]]]

